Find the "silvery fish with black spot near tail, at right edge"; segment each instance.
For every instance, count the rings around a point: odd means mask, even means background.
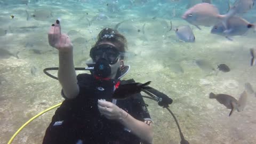
[[[226,27],[222,22],[213,26],[211,33],[222,36],[242,36],[247,33],[248,30],[255,30],[255,25],[246,21],[245,19],[237,16],[233,16],[227,20]]]

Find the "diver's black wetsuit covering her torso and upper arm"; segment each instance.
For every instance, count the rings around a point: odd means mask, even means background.
[[[75,99],[66,99],[55,111],[47,128],[43,144],[137,144],[140,139],[127,130],[117,120],[100,115],[98,99],[106,99],[127,111],[139,121],[150,119],[145,102],[140,93],[125,100],[112,100],[111,95],[118,81],[98,81],[92,75],[77,76],[79,94]],[[133,79],[121,84],[134,82]],[[62,96],[65,98],[65,95]]]

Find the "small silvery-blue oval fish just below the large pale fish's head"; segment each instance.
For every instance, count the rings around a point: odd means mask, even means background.
[[[176,36],[184,42],[194,43],[195,35],[189,26],[179,26],[175,29]]]

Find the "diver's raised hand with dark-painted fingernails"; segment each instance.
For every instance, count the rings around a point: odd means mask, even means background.
[[[49,33],[48,41],[52,47],[60,51],[69,51],[73,49],[73,44],[71,43],[69,36],[67,34],[61,34],[60,21],[56,20],[52,24]]]

